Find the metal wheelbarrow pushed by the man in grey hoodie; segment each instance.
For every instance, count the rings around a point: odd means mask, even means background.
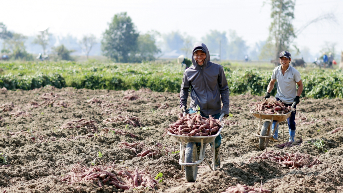
[[[219,118],[221,121],[223,116]],[[212,171],[215,170],[215,153],[214,153],[214,140],[222,132],[224,123],[221,123],[221,127],[218,130],[218,133],[210,136],[184,136],[184,135],[175,135],[168,132],[167,134],[176,138],[180,142],[180,159],[179,164],[181,165],[181,171],[185,170],[186,180],[188,182],[195,182],[197,180],[198,165],[205,159],[206,163]],[[186,149],[185,149],[185,144]],[[198,159],[197,146],[195,143],[200,143],[200,156]],[[208,159],[205,156],[205,149],[208,143],[212,144],[212,166]]]

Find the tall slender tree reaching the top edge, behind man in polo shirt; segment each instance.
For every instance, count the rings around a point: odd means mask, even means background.
[[[262,48],[262,55],[278,58],[280,52],[288,50],[292,40],[296,38],[292,24],[295,1],[270,0],[270,4],[272,6],[270,17],[273,21],[269,27],[267,43]]]

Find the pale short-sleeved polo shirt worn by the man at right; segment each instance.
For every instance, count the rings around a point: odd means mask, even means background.
[[[277,82],[275,98],[279,98],[286,104],[293,103],[297,95],[297,82],[301,80],[300,72],[289,65],[285,71],[285,75],[283,75],[281,66],[278,66],[274,68],[271,79],[276,79]]]

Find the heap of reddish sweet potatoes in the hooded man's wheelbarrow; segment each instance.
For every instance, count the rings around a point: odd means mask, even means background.
[[[220,121],[213,118],[202,117],[200,114],[187,114],[183,116],[179,113],[179,120],[170,124],[169,128],[166,128],[166,132],[176,135],[187,136],[209,136],[215,135],[221,127]]]

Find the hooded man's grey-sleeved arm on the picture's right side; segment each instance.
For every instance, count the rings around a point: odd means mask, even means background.
[[[219,84],[220,95],[221,95],[221,99],[222,99],[222,103],[223,103],[223,109],[222,109],[220,114],[224,113],[224,114],[228,115],[230,112],[230,109],[229,109],[229,103],[230,103],[229,87],[227,85],[227,80],[225,77],[223,66],[220,66],[220,69],[219,69],[218,84]]]

